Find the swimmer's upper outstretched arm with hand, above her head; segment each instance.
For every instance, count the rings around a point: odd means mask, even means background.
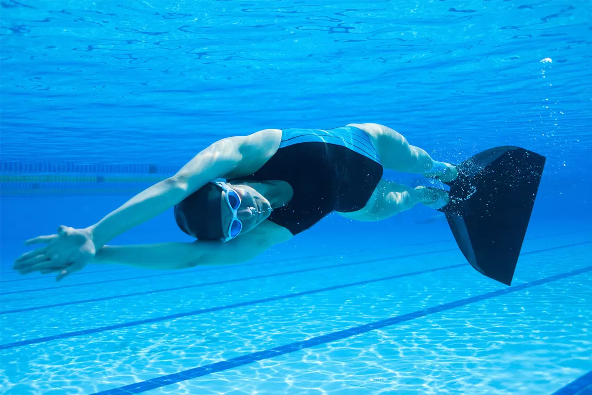
[[[264,161],[258,162],[279,146],[281,133],[276,131],[265,129],[219,140],[177,174],[140,192],[98,223],[85,229],[60,226],[56,235],[27,240],[26,245],[45,246],[22,254],[13,268],[21,274],[59,271],[58,281],[81,270],[115,236],[163,213],[212,179],[243,176],[259,168]]]

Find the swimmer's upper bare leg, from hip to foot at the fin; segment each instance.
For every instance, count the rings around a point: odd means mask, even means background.
[[[349,124],[364,130],[378,150],[382,165],[394,171],[423,174],[440,181],[452,181],[458,176],[454,166],[438,162],[423,149],[412,146],[402,134],[376,123]]]

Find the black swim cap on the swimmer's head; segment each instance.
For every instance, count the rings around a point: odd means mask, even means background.
[[[200,240],[224,237],[222,229],[222,188],[208,182],[175,205],[175,220],[179,228]]]

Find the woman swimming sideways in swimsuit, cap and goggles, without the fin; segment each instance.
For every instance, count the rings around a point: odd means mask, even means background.
[[[388,181],[384,169],[442,182],[458,176],[455,166],[433,160],[397,131],[375,123],[265,129],[215,142],[92,226],[60,226],[55,235],[28,240],[26,245],[43,246],[21,255],[14,269],[54,273],[59,281],[89,263],[146,269],[236,264],[333,211],[351,220],[380,221],[416,204],[438,210],[449,203],[445,190]],[[169,208],[195,242],[107,244]]]

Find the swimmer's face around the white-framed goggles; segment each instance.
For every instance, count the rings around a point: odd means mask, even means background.
[[[243,224],[240,235],[249,232],[258,224],[262,223],[271,214],[271,204],[259,192],[244,184],[228,184],[240,196],[240,206],[237,210],[237,217]],[[224,235],[228,236],[230,222],[233,220],[232,209],[226,203],[226,192],[222,191],[222,229]]]

